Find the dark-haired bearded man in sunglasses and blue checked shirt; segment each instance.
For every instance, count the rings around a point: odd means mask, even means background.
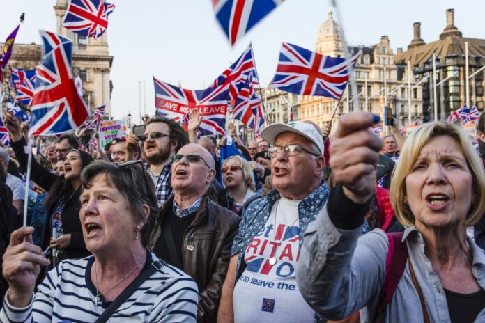
[[[148,121],[144,136],[138,138],[130,134],[126,139],[127,159],[134,158],[140,140],[144,142],[144,155],[149,164],[147,171],[155,184],[158,206],[161,207],[172,193],[171,157],[188,143],[187,134],[176,121],[155,116]]]

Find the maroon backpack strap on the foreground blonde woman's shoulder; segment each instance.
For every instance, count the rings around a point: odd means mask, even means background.
[[[376,311],[376,320],[384,315],[385,307],[390,303],[399,280],[403,276],[408,258],[408,246],[403,242],[403,233],[387,233],[389,250],[385,261],[385,281]]]

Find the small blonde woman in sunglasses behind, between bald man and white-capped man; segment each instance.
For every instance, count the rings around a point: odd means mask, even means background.
[[[255,192],[252,168],[242,157],[231,156],[224,160],[221,172],[226,188],[219,194],[218,203],[241,216],[245,205],[261,195]]]

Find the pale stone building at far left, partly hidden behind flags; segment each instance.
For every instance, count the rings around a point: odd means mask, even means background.
[[[111,81],[109,72],[113,63],[113,56],[109,56],[107,32],[98,40],[84,38],[77,33],[64,29],[61,24],[68,8],[68,0],[57,0],[54,6],[56,18],[56,33],[72,40],[72,70],[75,76],[82,79],[84,100],[88,107],[93,110],[102,104],[106,104],[105,118],[111,116],[110,97]],[[20,26],[22,31],[22,26]],[[3,44],[2,44],[3,45]],[[12,57],[8,61],[8,68],[23,68],[31,70],[40,62],[42,47],[37,44],[13,45]],[[8,89],[10,73],[6,72],[2,90]],[[15,96],[14,90],[10,89],[10,95]],[[6,98],[4,99],[6,101]]]

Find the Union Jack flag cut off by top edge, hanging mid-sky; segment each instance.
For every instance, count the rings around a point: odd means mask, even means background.
[[[284,0],[212,0],[214,13],[231,45]]]

